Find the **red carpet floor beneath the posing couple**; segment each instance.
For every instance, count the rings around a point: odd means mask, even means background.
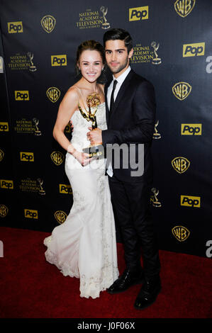
[[[79,297],[79,280],[62,276],[45,261],[43,239],[49,234],[0,227],[1,318],[211,318],[211,259],[160,251],[162,292],[143,311],[133,303],[140,286],[118,295]],[[118,244],[119,269],[124,269]]]

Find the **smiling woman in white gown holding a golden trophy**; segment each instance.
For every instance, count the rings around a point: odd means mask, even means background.
[[[77,67],[82,78],[68,89],[57,114],[53,135],[67,150],[65,171],[72,186],[74,203],[67,219],[45,238],[45,258],[65,275],[80,279],[80,296],[99,297],[118,278],[116,232],[105,159],[89,158],[82,151],[89,147],[87,132],[91,121],[87,96],[99,98],[96,111],[98,127],[106,129],[104,87],[96,80],[104,67],[104,49],[94,40],[79,45]],[[86,106],[86,107],[85,107]],[[96,109],[96,108],[95,108]],[[91,112],[94,111],[91,108]],[[74,131],[69,142],[65,126],[72,120]]]

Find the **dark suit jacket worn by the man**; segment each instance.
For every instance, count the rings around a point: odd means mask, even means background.
[[[110,84],[111,81],[105,85],[105,96],[107,96],[108,86]],[[142,176],[131,176],[131,171],[135,171],[135,169],[131,167],[131,154],[128,155],[128,167],[123,167],[123,155],[121,150],[121,167],[119,169],[114,167],[114,156],[111,159],[111,154],[107,155],[108,162],[111,162],[113,167],[113,174],[120,181],[152,181],[150,146],[155,128],[155,108],[155,91],[152,84],[150,81],[147,81],[145,78],[133,72],[132,69],[123,81],[113,105],[113,110],[111,111],[108,111],[106,98],[106,120],[108,129],[102,131],[104,147],[108,147],[108,144],[122,145],[125,143],[128,146],[134,144],[135,162],[142,163],[141,160],[138,160],[140,157],[138,154],[138,144],[144,144],[144,173]]]

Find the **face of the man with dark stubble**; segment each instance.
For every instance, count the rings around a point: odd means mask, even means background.
[[[133,55],[133,49],[128,54],[124,40],[107,40],[105,45],[105,55],[108,67],[119,77],[129,66],[130,57]]]

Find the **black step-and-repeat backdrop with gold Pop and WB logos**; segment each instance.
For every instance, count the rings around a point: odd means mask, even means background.
[[[0,4],[1,225],[51,232],[65,221],[72,188],[66,152],[52,137],[57,110],[79,79],[77,46],[124,28],[131,66],[157,98],[151,206],[160,249],[212,256],[212,1]]]

